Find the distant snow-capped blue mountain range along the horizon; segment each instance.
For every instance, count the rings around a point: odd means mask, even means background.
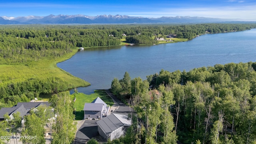
[[[78,15],[49,15],[49,16],[20,16],[0,17],[0,24],[131,24],[131,23],[208,23],[208,22],[232,22],[233,19],[205,18],[205,17],[160,17],[143,18],[122,15],[86,16]],[[241,20],[240,20],[241,21]]]

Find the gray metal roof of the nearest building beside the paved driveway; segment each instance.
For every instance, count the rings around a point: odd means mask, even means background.
[[[122,114],[110,114],[109,116],[99,120],[97,124],[103,132],[108,135],[123,126],[131,126],[131,120],[128,120],[128,116]]]

